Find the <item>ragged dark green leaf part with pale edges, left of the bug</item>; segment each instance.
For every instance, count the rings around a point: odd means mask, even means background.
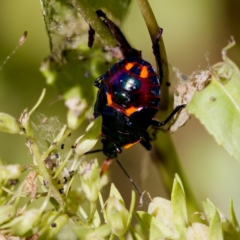
[[[65,63],[59,64],[48,58],[41,66],[41,72],[49,85],[55,86],[64,100],[77,97],[86,100],[88,106],[93,105],[96,90],[94,80],[105,73],[109,65],[100,50],[94,51],[91,58],[89,49],[65,52]]]

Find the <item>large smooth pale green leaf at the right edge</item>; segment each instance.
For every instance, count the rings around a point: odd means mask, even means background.
[[[240,162],[240,71],[226,57],[215,65],[211,83],[196,92],[187,110]]]

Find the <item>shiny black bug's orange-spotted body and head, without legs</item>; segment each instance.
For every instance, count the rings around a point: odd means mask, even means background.
[[[95,85],[99,91],[94,117],[103,118],[103,151],[113,158],[122,147],[142,140],[159,109],[160,81],[148,62],[127,58],[98,78]]]

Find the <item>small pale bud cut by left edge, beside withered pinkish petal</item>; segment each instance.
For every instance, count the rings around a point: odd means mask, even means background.
[[[18,179],[21,173],[22,167],[18,164],[0,165],[0,184],[5,184],[10,179]]]

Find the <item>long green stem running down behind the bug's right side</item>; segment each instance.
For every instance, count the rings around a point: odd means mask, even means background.
[[[153,14],[153,11],[148,3],[147,0],[136,0],[140,11],[143,15],[145,23],[147,25],[152,43],[154,43],[155,38],[157,36],[159,26],[156,21],[156,18]],[[163,67],[163,85],[161,86],[162,95],[161,95],[161,106],[160,106],[160,114],[164,118],[168,115],[168,105],[169,105],[169,94],[168,89],[166,86],[166,82],[169,81],[169,70],[168,70],[168,61],[167,61],[167,54],[163,43],[163,38],[160,38],[159,41],[160,46],[160,56],[162,61]],[[153,153],[153,160],[154,163],[157,165],[157,169],[159,174],[163,178],[163,182],[165,188],[167,190],[168,195],[171,195],[171,189],[173,184],[173,179],[175,177],[175,173],[178,173],[185,189],[187,205],[189,213],[192,214],[194,211],[199,210],[198,204],[194,198],[194,195],[189,187],[187,179],[183,173],[183,170],[180,166],[180,161],[178,155],[176,153],[174,144],[171,140],[171,137],[165,133],[159,133],[161,141],[155,141],[154,143],[154,153]]]

